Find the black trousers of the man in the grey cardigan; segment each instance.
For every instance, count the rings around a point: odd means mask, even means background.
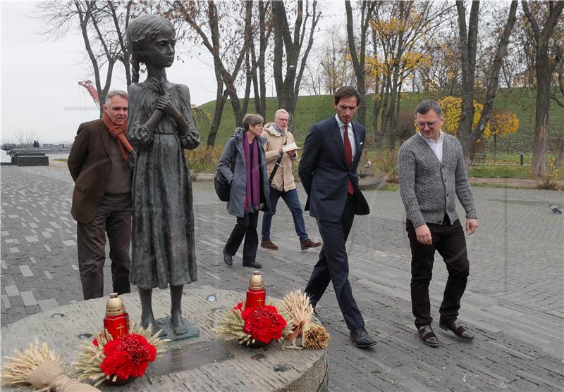
[[[460,298],[466,289],[466,282],[470,274],[466,239],[460,220],[450,225],[448,217],[445,216],[443,225],[428,223],[427,226],[433,239],[431,245],[424,245],[417,241],[415,228],[410,220],[407,220],[405,228],[411,246],[411,304],[417,328],[431,324],[433,321],[429,303],[429,283],[435,251],[438,251],[443,257],[448,271],[443,303],[439,309],[441,321],[453,322],[458,317]]]

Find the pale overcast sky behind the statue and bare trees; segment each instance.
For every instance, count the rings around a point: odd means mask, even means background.
[[[35,4],[0,0],[2,143],[20,131],[37,133],[42,143],[72,141],[80,122],[98,116],[94,101],[78,85],[80,80],[94,82],[82,37],[76,31],[56,41],[40,35],[39,20],[28,17],[34,14]],[[341,12],[345,20],[343,1],[322,6],[326,18],[320,26],[334,23]],[[320,34],[317,37],[322,39]],[[182,51],[186,49],[177,47],[177,54]],[[216,89],[211,56],[205,49],[201,53],[191,59],[183,56],[184,63],[175,61],[167,70],[171,82],[190,87],[196,105],[214,100]],[[123,68],[116,68],[112,89],[125,89],[122,75]],[[274,95],[273,87],[267,95]]]

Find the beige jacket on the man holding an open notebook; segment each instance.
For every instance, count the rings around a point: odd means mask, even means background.
[[[294,135],[291,132],[286,131],[286,134],[282,136],[280,133],[274,129],[274,122],[269,122],[264,125],[262,130],[262,137],[266,139],[264,144],[264,151],[266,151],[266,167],[268,168],[269,178],[276,160],[280,157],[278,150],[282,144],[290,144],[294,141]],[[298,158],[298,154],[293,157],[288,156],[287,153],[283,154],[282,161],[278,170],[276,170],[276,175],[270,186],[272,186],[277,191],[291,191],[295,189],[293,163],[294,160]]]

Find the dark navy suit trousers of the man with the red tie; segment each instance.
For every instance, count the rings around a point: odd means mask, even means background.
[[[355,219],[355,196],[349,196],[345,204],[343,215],[336,222],[317,220],[319,234],[323,239],[323,247],[319,253],[319,260],[315,265],[312,276],[305,287],[312,306],[323,296],[329,282],[333,282],[333,289],[337,302],[348,329],[364,327],[364,319],[360,314],[353,291],[348,281],[348,256],[345,243],[353,227]]]

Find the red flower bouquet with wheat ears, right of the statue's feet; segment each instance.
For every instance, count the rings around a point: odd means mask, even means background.
[[[215,331],[226,339],[237,339],[247,346],[255,342],[270,343],[290,334],[292,329],[288,321],[278,312],[275,306],[262,308],[245,308],[240,302],[235,308],[225,312],[219,320]]]

